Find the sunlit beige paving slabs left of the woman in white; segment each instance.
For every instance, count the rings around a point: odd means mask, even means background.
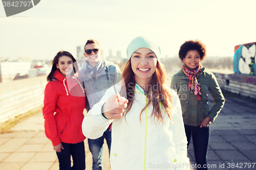
[[[39,112],[11,128],[10,133],[0,134],[1,170],[57,170],[58,158],[52,142],[44,131],[44,117]],[[92,154],[88,141],[86,169],[92,169]],[[108,145],[103,145],[103,167],[110,170]]]

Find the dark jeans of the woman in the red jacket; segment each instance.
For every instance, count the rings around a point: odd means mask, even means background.
[[[84,151],[84,142],[64,143],[61,142],[61,152],[56,152],[59,159],[59,170],[84,170],[86,168],[86,153]],[[73,166],[71,167],[71,156]]]

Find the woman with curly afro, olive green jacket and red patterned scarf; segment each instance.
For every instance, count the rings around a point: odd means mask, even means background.
[[[189,40],[183,43],[179,58],[184,65],[171,82],[171,88],[177,90],[181,102],[187,148],[192,135],[197,169],[207,169],[209,124],[214,122],[225,102],[216,77],[201,64],[205,57],[206,47],[202,42]],[[210,110],[208,91],[214,100]]]

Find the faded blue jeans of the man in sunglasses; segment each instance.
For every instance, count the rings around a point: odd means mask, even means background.
[[[111,150],[111,131],[108,128],[101,137],[97,139],[88,139],[89,149],[93,155],[93,170],[102,170],[102,146],[104,143],[104,138],[108,144],[109,154]]]

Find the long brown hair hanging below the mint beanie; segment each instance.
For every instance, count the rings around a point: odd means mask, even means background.
[[[121,91],[121,95],[126,92],[127,94],[127,100],[129,101],[127,103],[126,110],[124,112],[124,119],[126,114],[131,110],[133,101],[134,101],[134,89],[135,89],[135,79],[134,79],[134,72],[132,70],[131,65],[131,58],[126,61],[126,63],[121,67],[121,72],[123,75],[124,83],[126,91]],[[150,82],[151,87],[157,86],[158,88],[151,88],[146,91],[146,98],[148,100],[148,103],[146,106],[141,110],[140,112],[140,120],[141,120],[141,114],[146,109],[146,107],[150,106],[151,103],[153,104],[153,111],[151,113],[151,117],[157,118],[159,122],[163,123],[163,117],[164,117],[164,110],[168,114],[168,117],[171,119],[171,110],[172,110],[172,95],[170,94],[170,91],[168,90],[168,87],[165,85],[166,81],[166,71],[163,66],[163,64],[157,60],[157,67],[152,75],[152,80]],[[122,89],[125,89],[122,88]],[[163,114],[161,114],[163,113]]]

